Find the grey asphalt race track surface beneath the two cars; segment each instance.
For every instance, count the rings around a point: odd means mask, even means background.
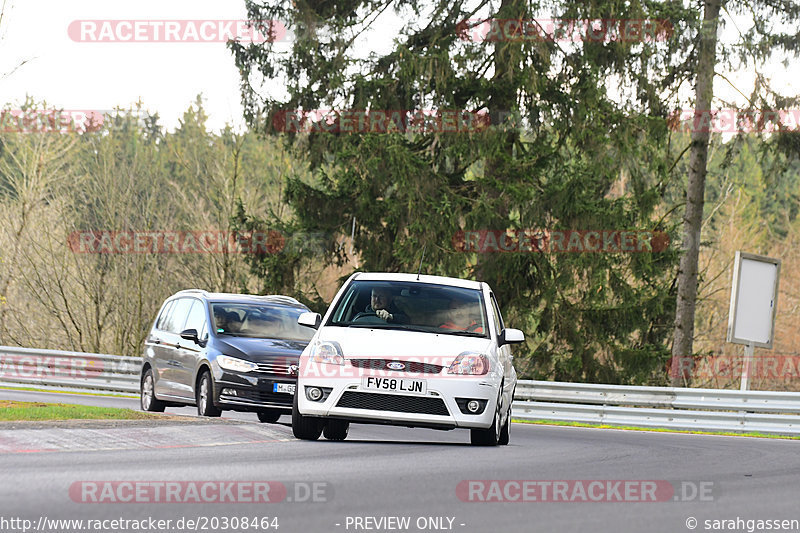
[[[0,399],[138,407],[134,399],[10,390],[0,390]],[[800,520],[798,441],[514,424],[511,444],[497,448],[470,446],[466,431],[363,425],[352,426],[344,442],[301,442],[292,438],[288,416],[280,422],[226,413],[155,425],[0,424],[0,531],[23,531],[22,519],[31,520],[31,531],[263,532],[277,524],[280,533],[747,531],[749,524],[758,530],[748,520]],[[544,483],[524,485],[530,492],[523,497],[523,484],[491,480]],[[563,483],[568,489],[558,501],[540,501],[546,487],[553,499],[558,483],[549,482],[562,480],[581,482]],[[176,481],[187,482],[173,493],[180,501],[154,496],[153,487]],[[602,494],[577,490],[598,481]],[[245,492],[230,489],[234,482]],[[258,497],[247,492],[255,484]],[[227,486],[235,501],[213,503],[211,494],[205,502],[212,503],[196,503],[190,486]],[[626,486],[633,492],[619,488]],[[645,493],[636,487],[654,486],[647,494],[658,501],[631,501]],[[131,487],[144,492],[134,495]],[[587,501],[598,494],[600,501]],[[243,503],[248,498],[259,501]],[[481,498],[494,501],[469,501]],[[156,529],[111,522],[150,517],[172,522]],[[242,527],[245,517],[258,528]],[[55,527],[53,519],[107,522],[77,529]],[[196,523],[188,527],[187,520]]]

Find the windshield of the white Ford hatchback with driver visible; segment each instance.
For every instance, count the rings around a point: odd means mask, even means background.
[[[489,332],[481,291],[399,281],[352,282],[327,325],[469,337],[488,337]]]

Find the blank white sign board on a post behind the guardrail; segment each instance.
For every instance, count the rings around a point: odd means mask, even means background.
[[[780,271],[779,259],[736,252],[728,342],[772,348]]]

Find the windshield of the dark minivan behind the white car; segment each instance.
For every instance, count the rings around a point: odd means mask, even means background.
[[[217,335],[308,342],[314,336],[314,330],[297,323],[297,317],[304,311],[281,305],[211,304]]]

